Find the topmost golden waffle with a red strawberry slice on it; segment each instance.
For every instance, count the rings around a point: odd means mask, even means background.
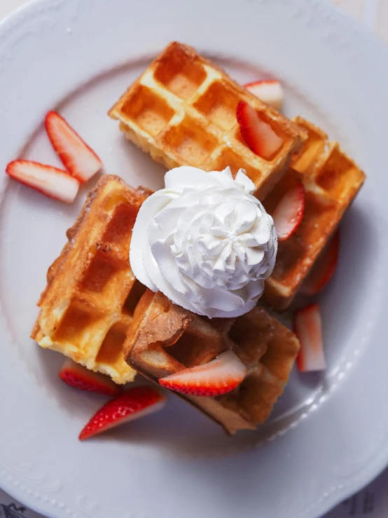
[[[254,107],[284,140],[266,161],[244,143],[236,119],[238,102]],[[306,135],[278,111],[251,95],[209,60],[181,43],[151,63],[109,111],[127,139],[168,169],[192,165],[221,171],[243,168],[263,198],[282,177]]]

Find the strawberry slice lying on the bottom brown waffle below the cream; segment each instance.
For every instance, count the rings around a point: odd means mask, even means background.
[[[228,350],[209,363],[183,369],[159,380],[160,385],[182,394],[214,397],[236,388],[247,374],[247,367]]]

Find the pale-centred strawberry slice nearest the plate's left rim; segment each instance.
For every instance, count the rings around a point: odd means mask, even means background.
[[[51,165],[15,160],[7,165],[6,173],[21,184],[64,203],[73,202],[79,189],[79,183],[75,178]]]

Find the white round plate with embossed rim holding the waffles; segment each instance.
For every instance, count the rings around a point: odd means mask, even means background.
[[[29,331],[87,189],[67,207],[2,176],[0,484],[48,517],[318,517],[388,462],[387,49],[317,0],[38,1],[0,27],[1,170],[20,153],[58,164],[42,128],[57,107],[107,172],[161,186],[163,169],[106,111],[173,39],[238,81],[281,79],[286,114],[317,122],[368,173],[321,297],[328,371],[294,372],[257,433],[230,439],[170,397],[164,412],[80,444],[102,398],[64,387],[62,358]]]

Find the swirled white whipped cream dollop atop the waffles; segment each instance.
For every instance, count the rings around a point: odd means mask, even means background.
[[[137,279],[199,315],[237,317],[256,305],[275,266],[277,235],[253,182],[230,168],[182,166],[141,205],[130,264]]]

